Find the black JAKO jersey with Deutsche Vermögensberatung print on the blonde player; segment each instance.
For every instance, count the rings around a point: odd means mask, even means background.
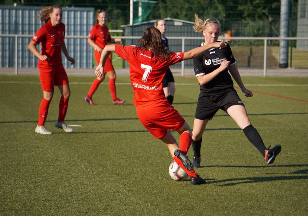
[[[203,46],[203,44],[201,44]],[[201,56],[193,59],[193,66],[196,77],[211,73],[219,68],[223,60],[230,61],[229,65],[235,64],[229,44],[223,49],[213,48]],[[213,80],[200,87],[200,94],[213,95],[223,92],[226,89],[233,88],[233,81],[228,73],[228,68],[219,73]]]

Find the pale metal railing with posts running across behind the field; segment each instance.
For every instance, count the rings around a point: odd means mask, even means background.
[[[15,37],[15,74],[18,74],[18,56],[17,56],[17,48],[18,48],[18,38],[26,37],[32,38],[33,35],[15,35],[15,34],[0,34],[0,37]],[[139,36],[116,36],[121,39],[140,39]],[[66,35],[65,38],[77,38],[77,39],[87,39],[88,36],[74,36],[74,35]],[[201,37],[168,37],[168,39],[178,39],[181,40],[182,52],[184,52],[185,48],[185,39],[189,40],[201,40]],[[263,40],[264,41],[264,64],[263,71],[264,76],[266,76],[266,63],[267,63],[267,41],[268,40],[308,40],[308,37],[219,37],[220,40]],[[184,61],[181,62],[181,74],[184,76]]]

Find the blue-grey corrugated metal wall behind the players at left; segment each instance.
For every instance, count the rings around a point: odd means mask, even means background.
[[[37,67],[38,58],[29,50],[32,36],[44,24],[36,18],[43,7],[33,6],[0,6],[0,34],[30,35],[18,37],[18,67]],[[94,20],[94,8],[63,7],[62,22],[66,26],[64,40],[69,55],[76,60],[71,65],[64,55],[62,62],[65,68],[93,68],[93,48],[87,44]],[[84,36],[71,38],[70,36]],[[0,67],[15,67],[14,37],[0,37]],[[37,46],[41,50],[41,45]]]

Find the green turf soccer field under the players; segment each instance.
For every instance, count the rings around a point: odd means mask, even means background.
[[[129,77],[118,76],[112,105],[108,78],[83,101],[94,76],[71,76],[66,123],[55,128],[55,89],[46,128],[34,132],[43,97],[38,76],[0,75],[0,215],[307,215],[308,77],[242,77],[238,89],[265,145],[282,145],[267,165],[236,123],[222,111],[203,135],[206,185],[171,179],[168,148],[139,122]],[[174,107],[193,127],[199,86],[175,77]],[[179,135],[172,132],[176,139]],[[193,149],[188,152],[193,158]]]

